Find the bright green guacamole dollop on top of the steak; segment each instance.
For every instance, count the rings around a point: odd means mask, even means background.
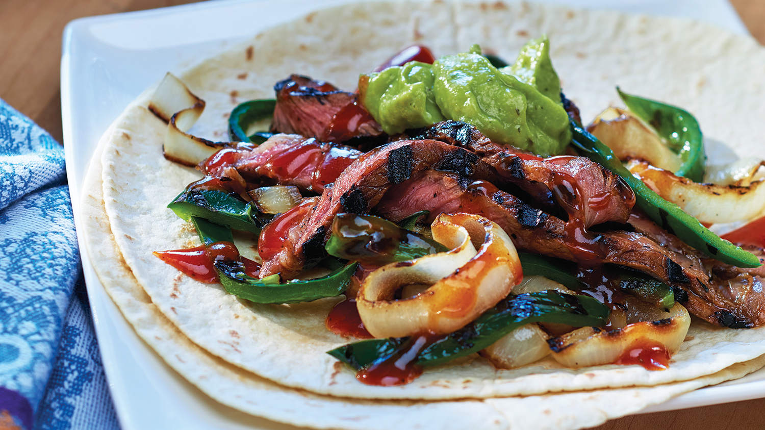
[[[494,142],[543,156],[562,153],[571,141],[546,37],[527,44],[516,64],[503,70],[477,45],[424,66],[390,67],[360,79],[362,104],[385,132],[454,119],[475,125]]]

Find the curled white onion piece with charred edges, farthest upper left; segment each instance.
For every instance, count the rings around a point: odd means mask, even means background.
[[[204,110],[204,100],[195,96],[172,73],[164,75],[148,104],[148,109],[164,122],[168,131],[164,135],[164,158],[181,165],[194,167],[226,145],[210,142],[187,133]]]

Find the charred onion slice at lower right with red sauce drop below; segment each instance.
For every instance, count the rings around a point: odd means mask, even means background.
[[[664,345],[669,353],[675,353],[688,333],[691,317],[680,305],[669,312],[640,300],[630,300],[627,309],[627,326],[611,331],[598,327],[581,327],[571,333],[549,340],[552,357],[567,367],[597,366],[615,363],[636,344],[647,341]],[[634,320],[640,319],[640,322]]]

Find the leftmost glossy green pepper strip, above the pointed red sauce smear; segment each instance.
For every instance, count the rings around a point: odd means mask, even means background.
[[[251,233],[260,233],[262,226],[268,222],[259,218],[262,214],[252,204],[223,190],[187,188],[168,204],[168,208],[182,220],[201,217]]]

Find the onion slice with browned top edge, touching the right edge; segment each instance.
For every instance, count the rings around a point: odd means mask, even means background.
[[[748,187],[698,184],[645,161],[630,161],[627,168],[665,200],[702,223],[732,223],[757,217],[765,207],[763,181]]]

